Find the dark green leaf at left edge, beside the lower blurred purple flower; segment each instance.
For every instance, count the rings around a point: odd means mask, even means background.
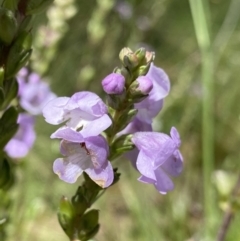
[[[4,112],[0,119],[0,149],[3,149],[15,135],[18,129],[17,118],[17,110],[14,107],[10,107]]]

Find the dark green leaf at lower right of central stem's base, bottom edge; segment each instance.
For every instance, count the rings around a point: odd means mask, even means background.
[[[99,211],[96,209],[92,209],[84,214],[81,218],[81,222],[79,225],[79,234],[78,238],[80,240],[89,240],[92,238],[99,230]]]

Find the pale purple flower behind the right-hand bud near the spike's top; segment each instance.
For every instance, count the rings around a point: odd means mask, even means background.
[[[163,99],[170,90],[170,81],[166,73],[153,64],[146,75],[152,81],[153,88],[148,97],[134,105],[138,110],[137,117],[142,121],[152,123],[152,119],[159,113],[163,106]]]

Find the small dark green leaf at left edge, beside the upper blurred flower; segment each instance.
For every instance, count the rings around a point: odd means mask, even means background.
[[[17,97],[18,93],[18,82],[15,78],[10,78],[8,81],[4,82],[4,103],[2,109],[8,107],[10,102]]]

